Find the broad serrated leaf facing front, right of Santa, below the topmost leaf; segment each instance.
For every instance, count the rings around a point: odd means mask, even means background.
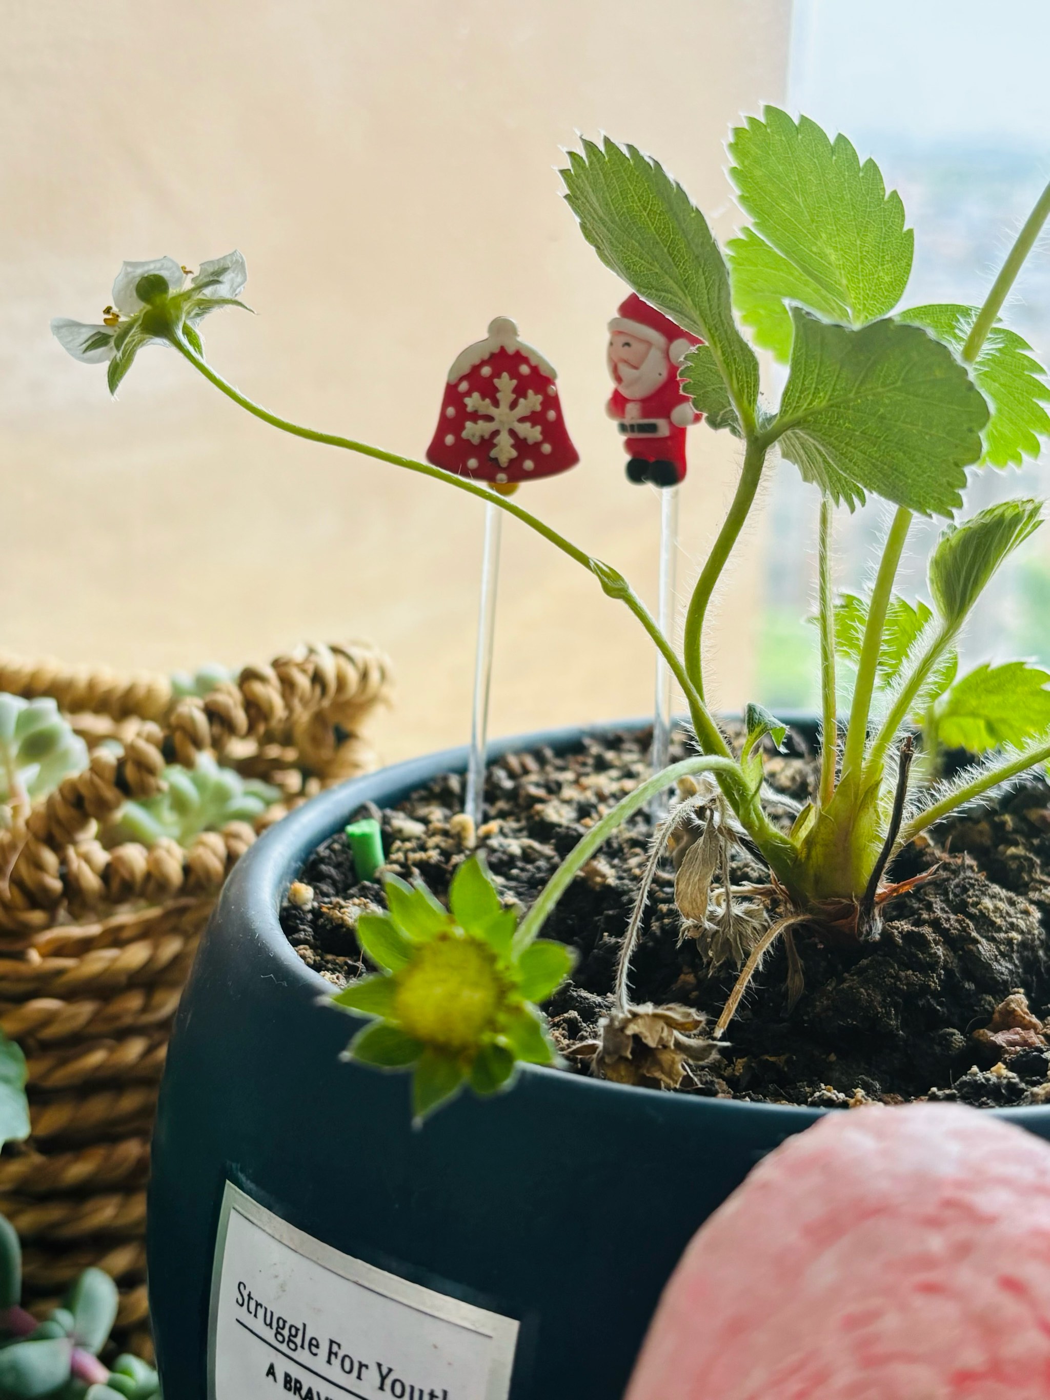
[[[963,365],[918,326],[851,330],[791,308],[791,374],[770,438],[850,510],[874,491],[921,515],[962,504],[988,409]]]

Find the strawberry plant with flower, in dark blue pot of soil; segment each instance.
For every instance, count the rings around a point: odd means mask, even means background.
[[[510,497],[235,389],[199,325],[238,302],[239,255],[189,284],[171,259],[125,265],[104,325],[56,323],[113,389],[164,342],[281,431],[498,500],[629,608],[692,728],[651,776],[637,732],[504,745],[476,832],[465,756],[434,755],[322,795],[241,862],[155,1141],[151,1295],[179,1394],[616,1394],[699,1222],[820,1112],[963,1099],[1050,1135],[1044,678],[986,668],[962,697],[955,678],[981,591],[1042,519],[1009,497],[967,514],[965,487],[1050,427],[1042,370],[1000,323],[1050,189],[981,307],[902,308],[913,238],[874,161],[773,108],[729,151],[750,223],[725,251],[633,147],[585,141],[563,172],[602,260],[699,337],[682,384],[741,444],[680,650],[615,567]],[[756,346],[788,365],[778,398]],[[818,494],[808,728],[760,706],[720,722],[706,694],[711,598],[777,456]],[[868,497],[895,514],[869,592],[836,601],[834,510]],[[916,515],[945,522],[928,602],[895,591]],[[952,714],[956,735],[977,721],[974,752],[945,777]],[[370,822],[382,864],[361,855]]]

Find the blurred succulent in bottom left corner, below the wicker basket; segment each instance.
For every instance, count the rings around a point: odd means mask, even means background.
[[[113,1369],[98,1359],[116,1319],[116,1284],[101,1268],[85,1268],[63,1305],[45,1322],[21,1306],[22,1252],[0,1215],[0,1400],[153,1400],[157,1372],[137,1357]]]

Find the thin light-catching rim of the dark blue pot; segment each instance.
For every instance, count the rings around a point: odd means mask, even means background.
[[[778,717],[785,724],[801,729],[812,729],[816,724],[816,717],[808,711],[784,710]],[[554,729],[510,735],[489,742],[487,762],[491,763],[501,759],[505,753],[521,752],[524,749],[550,748],[554,752],[566,750],[575,748],[585,738],[598,738],[609,732],[647,729],[651,728],[651,718],[608,720],[595,721],[588,725],[563,725]],[[281,972],[288,979],[288,990],[293,986],[298,986],[304,993],[309,993],[315,1001],[326,1001],[330,995],[332,984],[321,973],[314,972],[302,962],[288,942],[280,924],[280,907],[288,885],[300,872],[311,851],[344,826],[350,813],[361,806],[361,804],[377,801],[377,794],[382,794],[382,801],[378,805],[389,806],[402,801],[440,773],[465,774],[468,756],[469,748],[466,745],[452,749],[438,749],[420,757],[392,763],[377,769],[374,773],[365,773],[361,777],[349,778],[337,787],[319,792],[265,832],[241,857],[223,888],[217,911],[223,910],[228,913],[232,909],[238,909],[241,917],[237,923],[241,927],[249,927],[252,934],[265,946],[267,955],[280,965]],[[217,918],[216,921],[220,923]],[[351,1019],[360,1019],[363,1023],[370,1019],[367,1016],[358,1018],[353,1012],[344,1014],[350,1015]],[[753,1103],[746,1099],[710,1099],[692,1093],[665,1093],[640,1085],[615,1084],[609,1079],[594,1079],[584,1075],[567,1075],[566,1071],[547,1065],[522,1064],[519,1068],[521,1074],[529,1078],[540,1077],[542,1079],[553,1079],[561,1084],[571,1081],[581,1093],[631,1095],[636,1100],[641,1096],[647,1102],[659,1102],[664,1110],[673,1102],[675,1109],[679,1112],[693,1112],[703,1107],[708,1113],[715,1110],[717,1113],[727,1113],[729,1116],[755,1116],[760,1113],[771,1126],[776,1126],[777,1119],[787,1120],[788,1117],[798,1123],[799,1114],[816,1123],[825,1113],[840,1112],[837,1109],[813,1109],[794,1103]],[[514,1089],[510,1092],[512,1093]],[[997,1117],[1026,1126],[1033,1120],[1044,1123],[1050,1117],[1050,1105],[983,1109],[980,1112],[994,1113]]]

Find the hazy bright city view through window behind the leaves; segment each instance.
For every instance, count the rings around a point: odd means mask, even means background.
[[[1050,43],[1043,0],[795,0],[790,109],[829,133],[844,132],[861,158],[875,157],[916,231],[911,281],[902,305],[986,295],[1014,235],[1050,179]],[[1004,319],[1050,357],[1050,239],[1029,259]],[[1047,496],[1050,456],[1022,469],[970,473],[967,514],[1005,496]],[[757,692],[771,706],[815,707],[812,613],[818,496],[783,463],[770,487]],[[874,501],[836,521],[840,588],[861,589],[889,508]],[[927,596],[924,560],[942,522],[917,522],[899,577]],[[801,552],[799,536],[812,543]],[[811,571],[799,568],[806,560]],[[927,598],[928,601],[928,598]],[[987,591],[962,648],[963,661],[1023,657],[1050,664],[1050,531],[1018,550]]]

